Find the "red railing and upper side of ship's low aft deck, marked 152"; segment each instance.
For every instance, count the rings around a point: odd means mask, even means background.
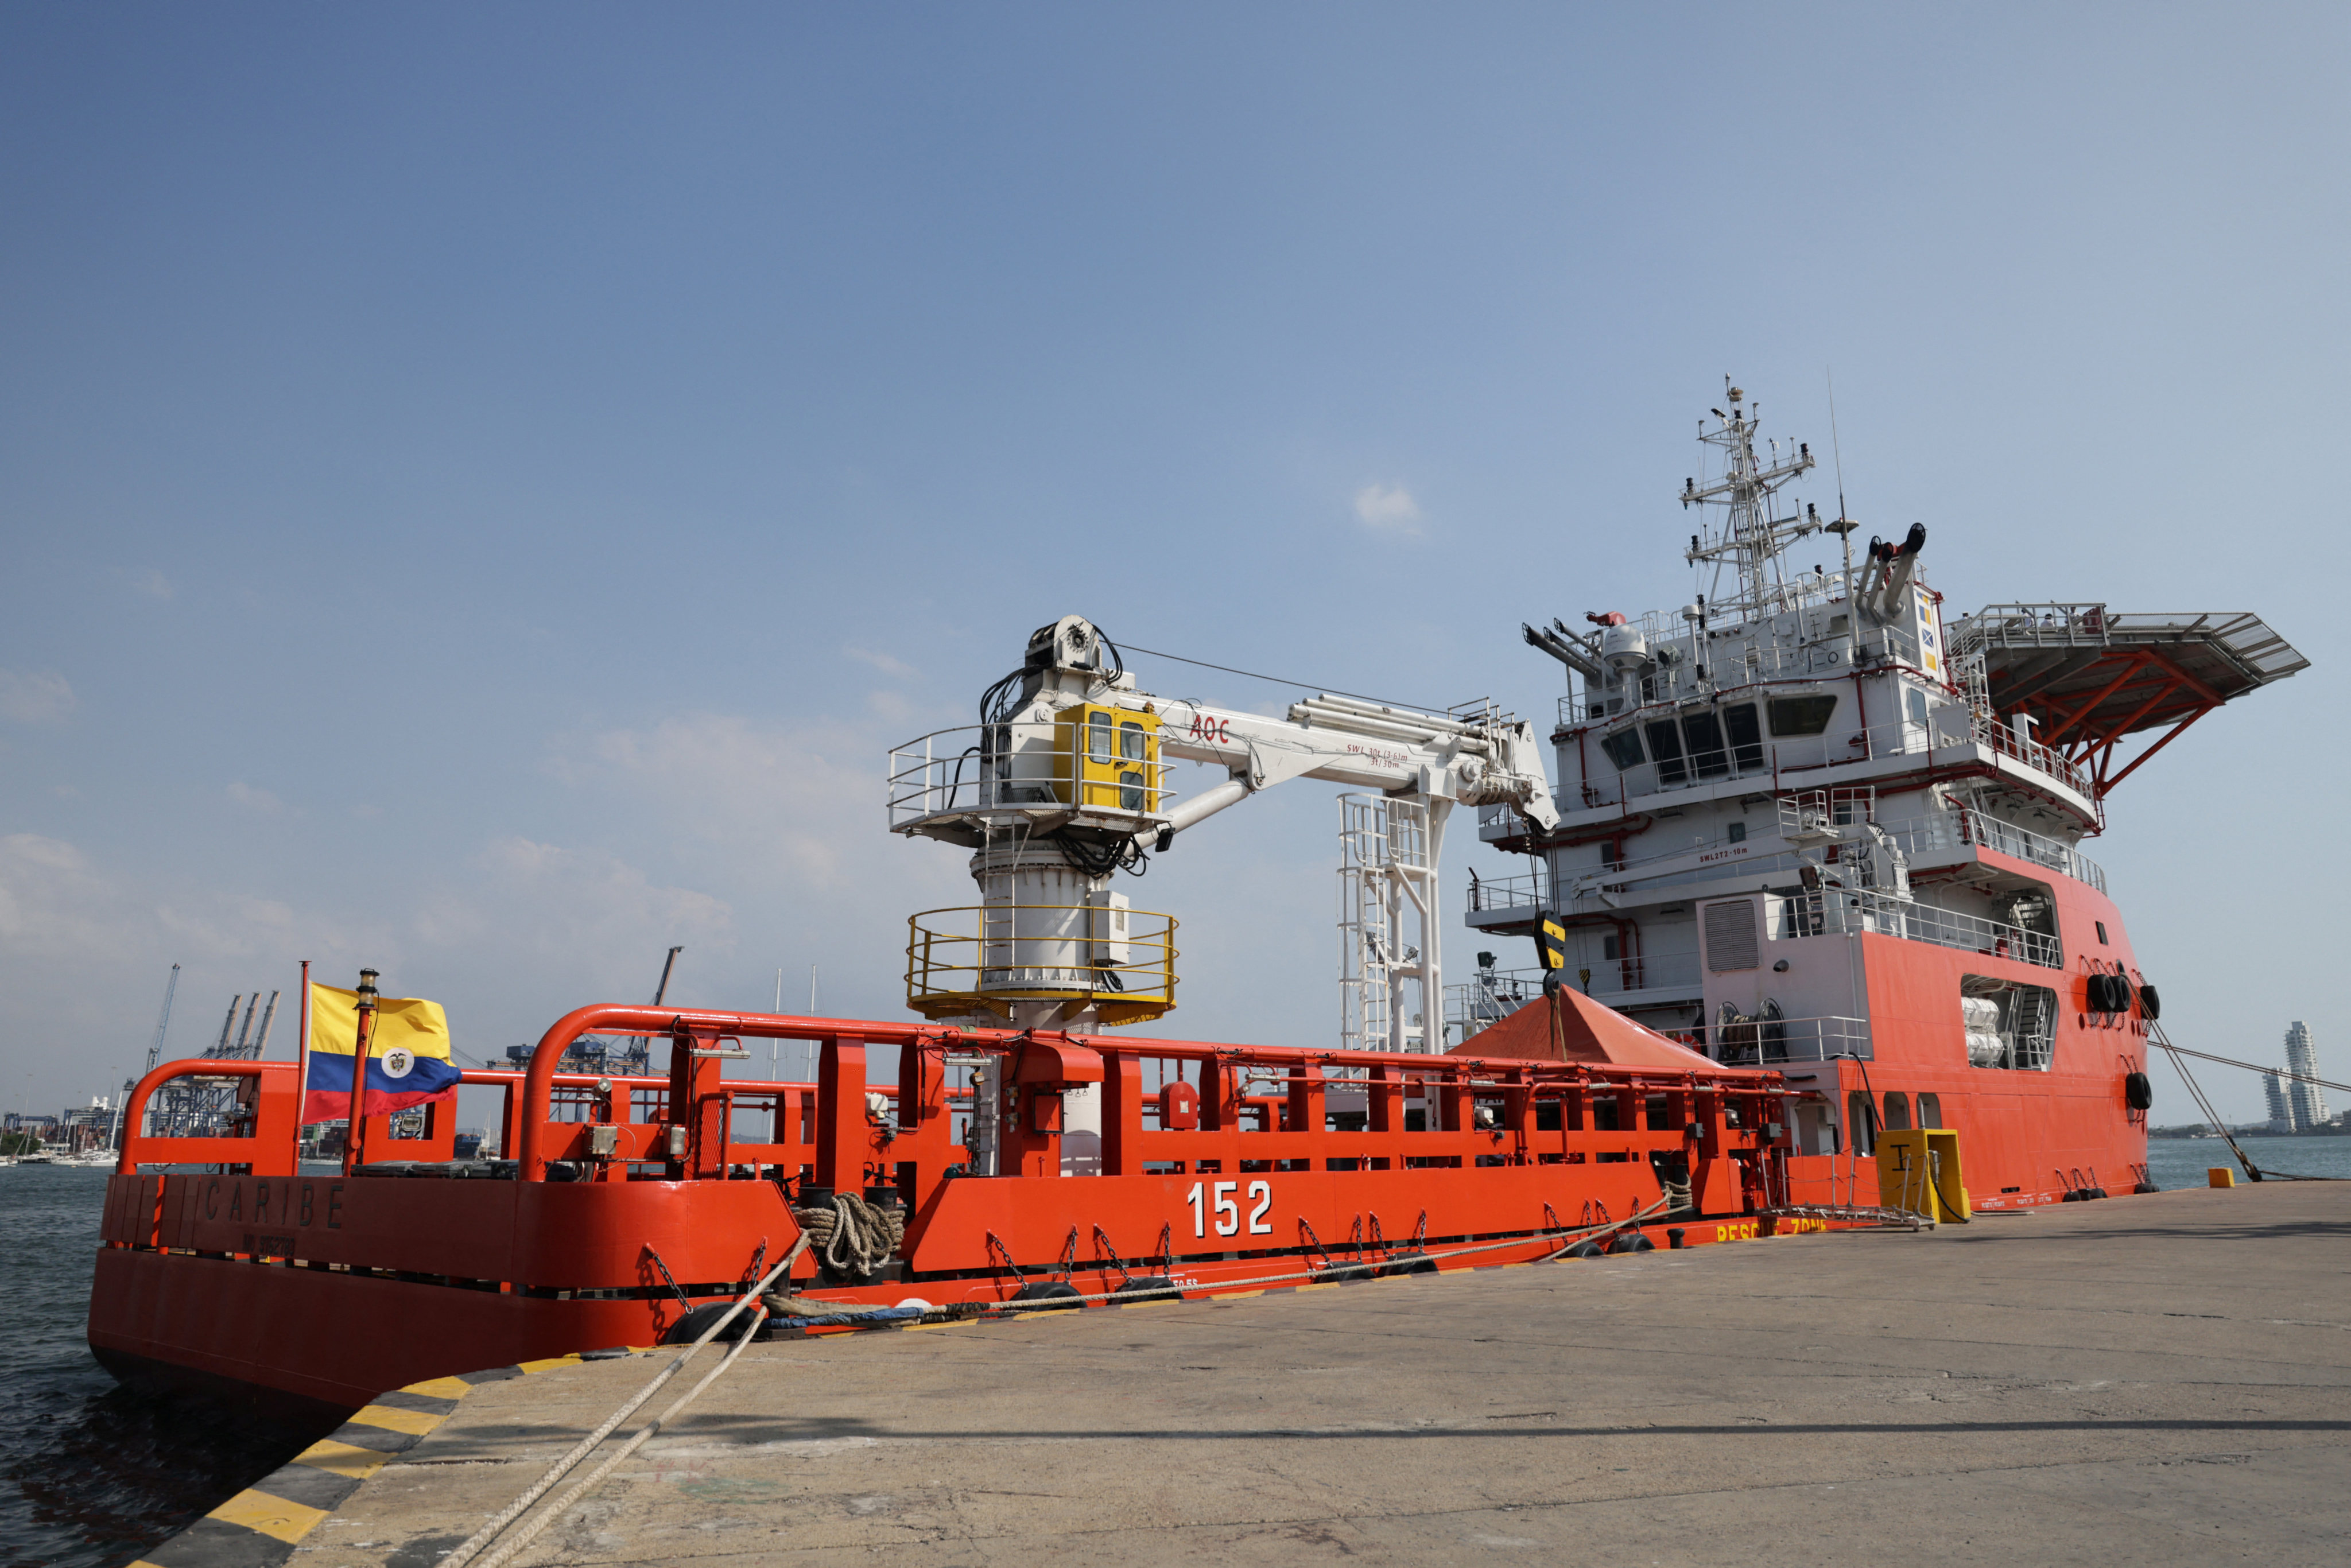
[[[670,1072],[555,1072],[588,1032],[668,1039]],[[724,1079],[750,1039],[816,1041],[818,1081]],[[865,1081],[870,1046],[898,1048],[896,1084]],[[997,1171],[1013,1180],[964,1180],[973,1063],[1004,1095]],[[254,1077],[240,1135],[141,1131],[148,1095],[172,1077]],[[755,1246],[781,1248],[792,1234],[781,1178],[792,1192],[896,1190],[917,1272],[983,1272],[990,1239],[1041,1265],[1089,1234],[1128,1258],[1230,1262],[1345,1246],[1349,1229],[1396,1239],[1573,1225],[1585,1199],[1622,1218],[1660,1197],[1660,1173],[1688,1180],[1695,1208],[1740,1213],[1761,1199],[1766,1124],[1782,1091],[1775,1074],[1737,1067],[639,1006],[581,1009],[548,1030],[527,1072],[473,1070],[463,1084],[501,1091],[501,1147],[517,1157],[517,1180],[364,1180],[390,1159],[447,1161],[451,1105],[411,1140],[393,1140],[376,1117],[357,1171],[301,1175],[292,1063],[167,1063],[132,1093],[118,1171],[136,1180],[115,1182],[106,1239],[494,1291],[649,1291],[658,1279],[647,1248],[689,1286],[734,1279]],[[1098,1150],[1065,1147],[1065,1095],[1081,1086],[1100,1091]],[[1065,1152],[1084,1178],[1140,1180],[1065,1180]],[[219,1171],[141,1175],[158,1164]]]

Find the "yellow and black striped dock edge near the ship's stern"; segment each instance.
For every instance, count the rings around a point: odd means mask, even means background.
[[[303,1535],[367,1486],[395,1453],[407,1453],[456,1415],[465,1394],[484,1382],[505,1382],[578,1361],[578,1356],[555,1356],[494,1366],[376,1394],[329,1436],[153,1547],[129,1568],[277,1568],[294,1556]]]

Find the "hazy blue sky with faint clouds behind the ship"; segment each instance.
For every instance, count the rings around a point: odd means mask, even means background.
[[[2276,1060],[2299,1016],[2339,1065],[2346,45],[0,9],[0,1098],[120,1084],[172,961],[179,1048],[301,957],[475,1053],[670,943],[686,1001],[818,964],[898,1016],[905,914],[969,882],[882,832],[884,750],[1030,628],[1547,712],[1519,621],[1679,604],[1721,376],[1824,451],[1831,367],[1853,515],[1928,522],[1954,607],[2257,609],[2316,661],[2090,849],[2179,1039]],[[1291,785],[1136,889],[1185,922],[1168,1032],[1333,1034],[1335,818]]]

